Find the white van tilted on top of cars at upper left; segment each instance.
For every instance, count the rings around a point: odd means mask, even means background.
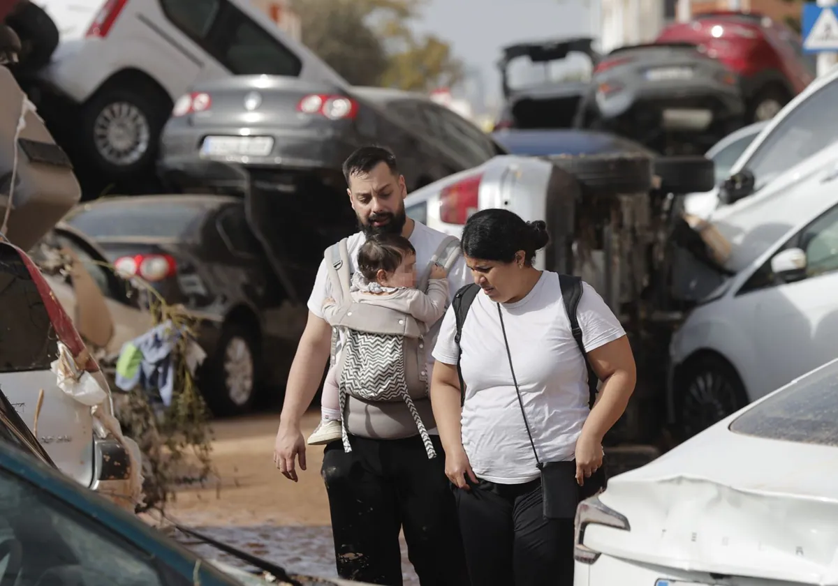
[[[174,100],[196,82],[267,74],[345,83],[251,0],[44,0],[44,6],[62,37],[39,84],[80,106],[76,148],[113,180],[153,172]]]

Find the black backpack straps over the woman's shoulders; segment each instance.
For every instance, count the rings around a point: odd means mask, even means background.
[[[565,303],[565,310],[567,311],[567,318],[571,322],[571,333],[573,339],[576,340],[579,352],[582,352],[582,357],[585,359],[587,366],[587,391],[588,391],[588,407],[593,409],[593,404],[597,400],[597,386],[599,378],[597,373],[591,367],[591,362],[587,359],[587,352],[585,352],[585,345],[582,342],[582,327],[579,326],[579,319],[577,317],[577,308],[579,300],[582,299],[582,279],[573,275],[559,275],[559,286],[561,287],[561,300]],[[479,285],[473,283],[463,286],[454,295],[452,306],[454,308],[454,317],[456,318],[457,332],[454,334],[454,342],[457,342],[457,347],[460,345],[460,337],[463,333],[463,323],[465,323],[466,316],[468,316],[468,308],[474,301],[480,290]],[[460,356],[462,351],[458,350],[457,357],[457,376],[460,379],[460,404],[465,403],[466,385],[463,381],[463,371],[460,369]]]

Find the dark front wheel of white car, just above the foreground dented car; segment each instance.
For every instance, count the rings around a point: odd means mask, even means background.
[[[723,357],[702,354],[685,364],[675,388],[675,423],[689,439],[748,404],[736,369]]]

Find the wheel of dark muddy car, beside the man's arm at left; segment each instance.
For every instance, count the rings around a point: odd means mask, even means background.
[[[205,360],[199,386],[215,417],[249,413],[261,389],[261,353],[252,328],[227,323],[218,346]]]

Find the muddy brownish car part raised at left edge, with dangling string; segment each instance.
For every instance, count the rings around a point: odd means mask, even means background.
[[[79,202],[81,188],[70,159],[55,144],[34,107],[27,107],[26,95],[5,67],[0,67],[0,104],[0,225],[11,205],[4,235],[28,250]],[[21,118],[24,125],[16,148]]]

